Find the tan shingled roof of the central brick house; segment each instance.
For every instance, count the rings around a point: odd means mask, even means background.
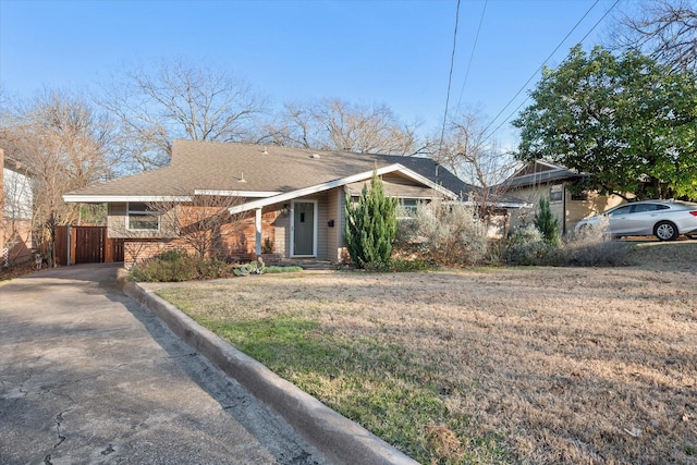
[[[169,167],[65,194],[69,201],[123,201],[184,197],[196,192],[240,192],[268,197],[399,164],[455,196],[470,186],[429,158],[318,151],[252,144],[174,140]]]

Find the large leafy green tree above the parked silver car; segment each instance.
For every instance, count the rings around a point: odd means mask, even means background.
[[[513,122],[517,158],[591,174],[588,187],[697,198],[697,79],[636,51],[579,46],[547,69]]]

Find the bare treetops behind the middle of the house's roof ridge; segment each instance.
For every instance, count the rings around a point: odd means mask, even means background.
[[[424,154],[416,125],[399,121],[384,103],[352,105],[339,98],[286,103],[267,140],[290,147],[356,154]]]

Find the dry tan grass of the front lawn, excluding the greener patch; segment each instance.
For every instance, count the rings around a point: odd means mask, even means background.
[[[633,258],[623,268],[302,272],[150,286],[209,321],[311,320],[320,340],[402,351],[393,357],[408,365],[400,386],[427,389],[447,407],[443,418],[415,420],[417,435],[440,428],[460,451],[444,455],[426,439],[400,444],[425,463],[697,463],[697,242],[643,243]],[[331,388],[341,376],[304,389],[341,409],[345,394]],[[465,420],[457,429],[448,416]],[[491,449],[487,438],[504,453],[479,453]]]

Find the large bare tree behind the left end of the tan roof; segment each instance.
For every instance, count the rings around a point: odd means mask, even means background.
[[[183,60],[126,70],[98,103],[120,121],[119,146],[142,170],[168,164],[174,138],[249,140],[267,105],[233,73]]]

